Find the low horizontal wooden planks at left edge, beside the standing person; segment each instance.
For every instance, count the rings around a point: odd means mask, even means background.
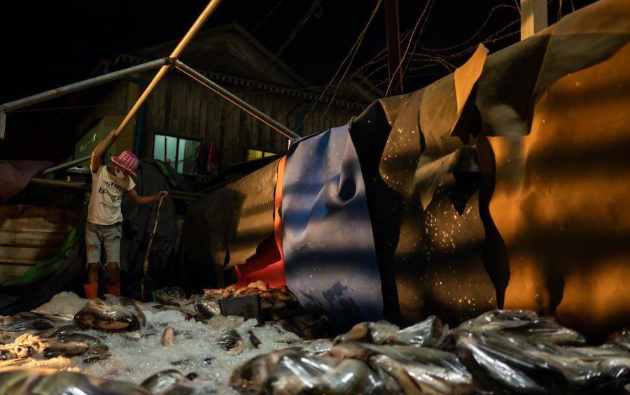
[[[55,256],[80,208],[0,205],[0,282]]]

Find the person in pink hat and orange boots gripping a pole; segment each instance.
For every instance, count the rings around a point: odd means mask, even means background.
[[[109,278],[105,284],[108,294],[120,296],[120,238],[123,236],[123,213],[120,203],[123,192],[127,192],[136,204],[148,204],[166,198],[167,191],[151,196],[139,196],[131,175],[137,177],[138,158],[133,152],[123,151],[112,157],[113,164],[102,166],[105,153],[116,141],[115,131],[94,148],[90,161],[92,171],[92,196],[87,207],[85,224],[85,248],[87,251],[87,284],[83,285],[87,299],[95,299],[99,294],[99,266],[101,266],[101,246],[105,247],[106,264],[104,269]]]

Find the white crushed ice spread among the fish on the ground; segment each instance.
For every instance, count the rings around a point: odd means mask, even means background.
[[[55,295],[37,308],[37,313],[73,317],[85,305],[71,292]],[[140,385],[151,375],[167,369],[176,369],[183,375],[194,376],[186,383],[198,394],[232,392],[228,378],[232,369],[260,354],[279,350],[302,339],[282,329],[279,324],[255,326],[255,319],[245,321],[243,317],[212,317],[207,324],[195,319],[187,321],[174,310],[157,310],[153,303],[138,303],[146,315],[146,326],[139,331],[108,333],[90,329],[83,331],[102,340],[109,347],[109,357],[90,362],[84,356],[62,358],[55,368],[80,371],[99,378],[122,380]],[[162,333],[167,327],[175,330],[175,343],[162,345]],[[245,340],[243,350],[228,354],[218,344],[222,329],[235,329]],[[251,333],[260,340],[258,348],[250,340]],[[87,360],[87,363],[85,362]],[[35,362],[35,361],[33,361]],[[41,362],[41,361],[39,361]],[[63,366],[65,364],[65,366]]]

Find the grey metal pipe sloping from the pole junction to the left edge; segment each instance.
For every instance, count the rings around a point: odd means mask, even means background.
[[[0,111],[4,113],[8,113],[10,111],[17,110],[18,108],[30,106],[31,104],[35,104],[41,101],[52,99],[57,96],[63,96],[64,94],[76,92],[80,89],[85,89],[85,88],[93,87],[96,85],[101,85],[101,84],[104,84],[105,82],[110,82],[113,80],[117,80],[118,78],[131,76],[132,74],[135,74],[135,73],[142,73],[144,71],[158,69],[158,67],[163,66],[165,64],[169,64],[169,58],[167,57],[162,58],[162,59],[157,59],[152,62],[139,64],[137,66],[132,66],[128,69],[113,71],[112,73],[104,74],[103,76],[88,78],[87,80],[74,82],[73,84],[64,85],[62,87],[58,87],[57,89],[50,89],[45,92],[34,94],[32,96],[27,96],[22,99],[9,101],[8,103],[4,103],[0,106]]]

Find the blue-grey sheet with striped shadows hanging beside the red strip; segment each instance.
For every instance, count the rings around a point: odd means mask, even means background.
[[[358,157],[347,127],[291,141],[283,181],[287,286],[337,329],[383,319],[381,279]]]

